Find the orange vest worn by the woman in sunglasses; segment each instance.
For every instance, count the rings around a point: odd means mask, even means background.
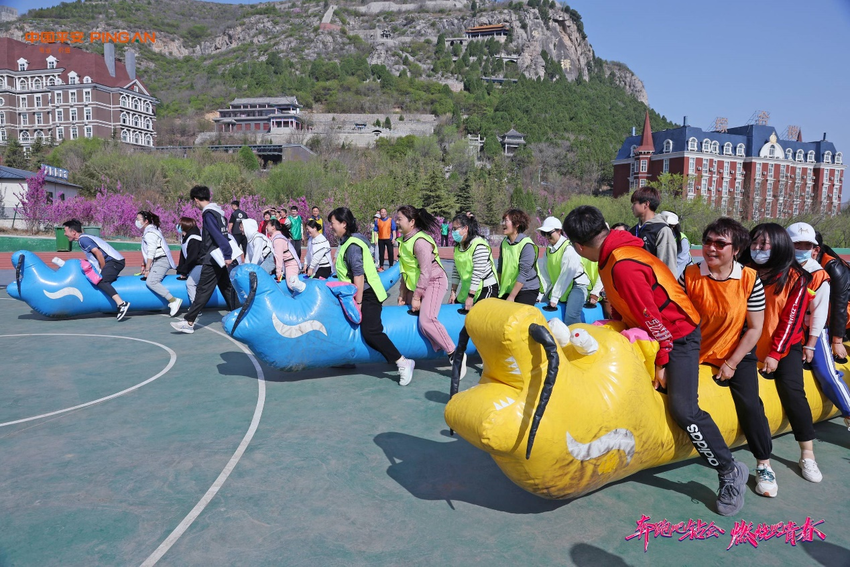
[[[700,274],[699,265],[685,268],[685,291],[702,315],[700,363],[720,366],[741,341],[747,322],[747,298],[753,292],[758,274],[744,268],[741,279],[713,280]]]

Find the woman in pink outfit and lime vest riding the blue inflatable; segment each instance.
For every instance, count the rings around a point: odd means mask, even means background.
[[[408,305],[411,311],[419,313],[419,330],[431,342],[431,348],[445,351],[449,363],[453,363],[455,343],[437,318],[449,289],[449,278],[440,261],[437,243],[428,234],[429,230],[439,228],[439,222],[425,209],[402,205],[396,213],[396,225],[402,234],[398,247],[401,266],[398,304]],[[465,354],[461,374],[466,374]]]

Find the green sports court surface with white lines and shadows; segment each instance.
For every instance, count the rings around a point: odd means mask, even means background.
[[[386,365],[285,374],[219,320],[205,312],[193,335],[158,313],[48,320],[0,290],[0,566],[850,565],[840,419],[816,426],[822,483],[802,479],[782,436],[778,498],[751,478],[735,518],[714,513],[716,476],[693,460],[552,502],[449,436],[443,363],[407,387]],[[626,540],[641,515],[724,533],[650,535],[645,552]],[[792,530],[796,545],[727,550],[736,520],[807,517],[825,540]]]

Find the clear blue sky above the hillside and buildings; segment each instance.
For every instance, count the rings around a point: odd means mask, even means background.
[[[59,2],[0,3],[23,11]],[[738,126],[767,110],[777,133],[790,124],[801,127],[806,141],[826,132],[850,155],[850,111],[843,108],[850,93],[850,0],[570,5],[582,15],[596,54],[628,65],[643,80],[649,104],[667,118],[681,123],[687,115],[691,125],[708,128],[723,116]]]

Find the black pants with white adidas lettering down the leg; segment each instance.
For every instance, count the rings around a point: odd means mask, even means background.
[[[685,430],[697,453],[718,473],[732,469],[732,452],[708,412],[699,407],[699,327],[673,341],[667,363],[667,401],[673,421]]]

